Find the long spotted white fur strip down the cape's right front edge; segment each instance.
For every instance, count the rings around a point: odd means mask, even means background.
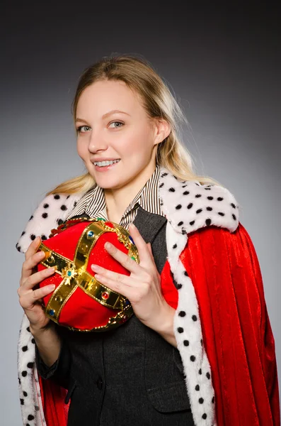
[[[203,346],[195,290],[183,263],[177,255],[175,256],[178,247],[181,250],[187,239],[188,237],[185,234],[179,235],[171,224],[167,223],[168,262],[173,273],[173,279],[179,287],[178,307],[174,317],[173,331],[183,361],[185,385],[195,425],[216,426],[214,403],[212,403],[214,388],[211,380],[211,368]],[[173,249],[175,246],[177,247]],[[208,373],[209,378],[207,378],[206,373]]]

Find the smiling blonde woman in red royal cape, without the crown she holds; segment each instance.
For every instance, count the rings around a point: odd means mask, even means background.
[[[234,196],[193,173],[168,87],[144,60],[104,58],[81,75],[73,107],[87,173],[49,192],[17,243],[23,424],[280,425],[256,251]],[[40,304],[54,290],[37,288],[54,273],[35,272],[40,239],[86,215],[130,229],[139,250],[138,265],[105,247],[128,277],[92,266],[134,310],[112,332],[57,327]]]

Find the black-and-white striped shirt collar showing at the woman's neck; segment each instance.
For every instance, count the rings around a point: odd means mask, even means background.
[[[160,167],[156,165],[154,173],[141,190],[134,197],[134,200],[130,202],[127,209],[125,209],[124,214],[120,220],[120,225],[125,229],[129,229],[130,222],[134,221],[134,218],[137,216],[137,209],[141,206],[147,212],[160,214],[165,216],[160,205],[159,199],[159,176],[160,176]],[[79,200],[76,204],[76,207],[69,214],[67,219],[74,217],[79,214],[88,214],[91,218],[95,219],[96,217],[102,217],[105,220],[108,220],[105,197],[103,193],[103,188],[96,185],[93,189],[86,192],[86,194]]]

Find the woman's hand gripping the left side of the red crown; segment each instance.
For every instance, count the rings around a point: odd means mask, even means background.
[[[30,332],[40,332],[45,329],[50,322],[47,315],[42,309],[42,297],[45,297],[55,289],[55,285],[46,285],[42,288],[35,288],[42,280],[50,277],[55,272],[54,268],[47,268],[43,271],[33,272],[34,269],[45,253],[40,251],[36,253],[40,246],[41,239],[38,236],[32,241],[25,253],[25,261],[21,270],[20,287],[18,288],[18,296],[21,307],[30,322]]]

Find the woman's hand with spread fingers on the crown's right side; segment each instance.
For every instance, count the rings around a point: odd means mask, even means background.
[[[130,271],[130,275],[91,265],[92,270],[96,272],[95,278],[111,290],[127,297],[134,314],[143,324],[161,334],[171,334],[175,310],[162,295],[161,277],[154,262],[151,245],[144,241],[134,224],[130,224],[130,235],[139,252],[139,263],[113,244],[105,243],[105,250]]]

